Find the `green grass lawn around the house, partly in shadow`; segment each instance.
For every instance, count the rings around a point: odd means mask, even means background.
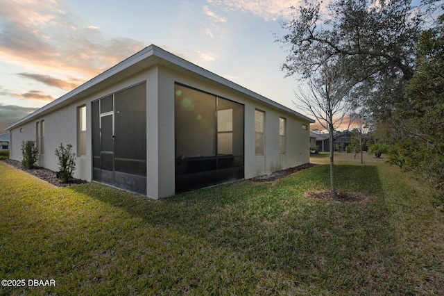
[[[0,162],[0,278],[56,280],[0,294],[442,295],[444,213],[427,188],[370,156],[335,163],[338,190],[366,202],[305,197],[328,189],[328,165],[153,201]]]

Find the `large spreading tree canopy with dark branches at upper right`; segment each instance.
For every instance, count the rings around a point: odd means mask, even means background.
[[[293,19],[282,26],[289,31],[279,39],[289,47],[282,70],[305,79],[326,61],[341,59],[354,88],[368,92],[365,104],[373,115],[390,116],[397,104],[404,104],[418,37],[439,2],[333,0],[321,10],[319,3],[304,0],[291,8]]]

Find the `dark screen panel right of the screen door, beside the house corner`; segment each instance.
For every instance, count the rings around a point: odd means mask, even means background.
[[[146,83],[114,94],[115,186],[146,193]]]

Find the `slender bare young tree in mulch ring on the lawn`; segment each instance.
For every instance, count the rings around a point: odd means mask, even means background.
[[[345,114],[351,107],[345,98],[350,92],[340,63],[327,64],[307,79],[309,92],[301,88],[295,92],[295,104],[311,113],[316,120],[330,133],[330,186],[332,198],[336,199],[334,186],[334,130],[341,125]]]

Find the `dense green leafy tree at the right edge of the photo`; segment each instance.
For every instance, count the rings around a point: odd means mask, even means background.
[[[410,108],[394,114],[400,136],[391,162],[444,190],[444,15],[419,40],[418,67],[405,92]]]

